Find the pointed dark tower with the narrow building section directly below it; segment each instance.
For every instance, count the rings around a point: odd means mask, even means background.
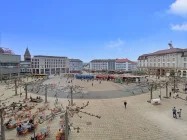
[[[31,73],[31,55],[29,49],[26,48],[24,54],[24,61],[20,62],[20,72],[21,73]]]

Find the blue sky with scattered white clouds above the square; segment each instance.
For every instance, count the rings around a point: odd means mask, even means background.
[[[23,55],[128,58],[187,48],[187,0],[0,0],[0,46]]]

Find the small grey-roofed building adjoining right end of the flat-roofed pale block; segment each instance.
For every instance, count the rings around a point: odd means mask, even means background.
[[[69,68],[71,71],[82,71],[83,62],[80,59],[69,59]]]

